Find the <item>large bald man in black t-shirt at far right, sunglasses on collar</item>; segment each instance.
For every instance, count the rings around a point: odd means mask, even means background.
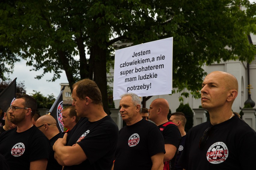
[[[191,128],[178,163],[184,169],[256,169],[256,133],[231,109],[238,95],[236,78],[215,71],[201,89],[210,121]]]

